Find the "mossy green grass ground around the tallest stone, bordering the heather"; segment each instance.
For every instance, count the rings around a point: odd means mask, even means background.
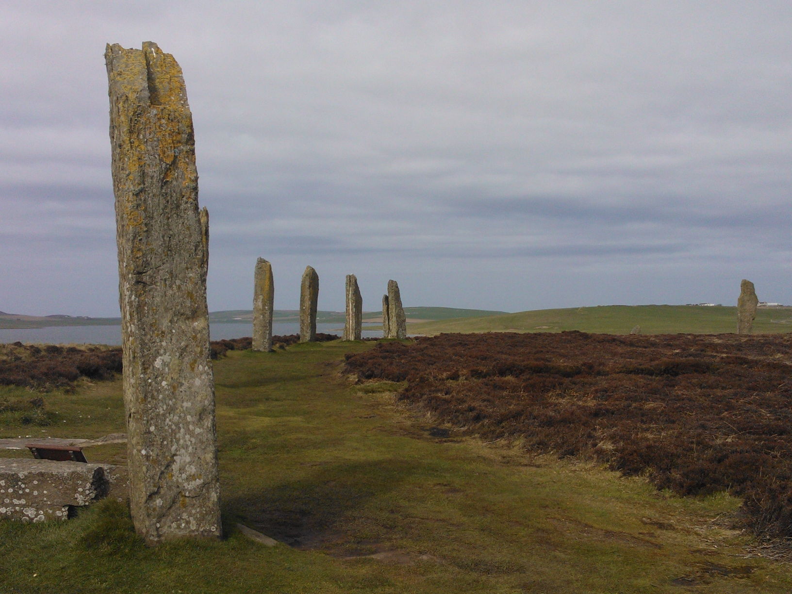
[[[789,565],[746,558],[747,536],[729,530],[740,501],[673,497],[519,444],[433,437],[431,419],[395,401],[398,385],[341,375],[345,352],[370,346],[215,361],[222,541],[147,548],[111,501],[63,524],[0,522],[0,592],[792,589]],[[0,425],[0,436],[123,431],[118,381],[44,399],[58,422]],[[120,463],[124,447],[87,454]],[[291,546],[253,543],[237,522]]]

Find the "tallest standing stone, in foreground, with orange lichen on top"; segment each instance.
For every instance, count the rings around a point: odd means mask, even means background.
[[[181,68],[107,46],[130,504],[148,543],[221,534],[215,381],[192,114]]]

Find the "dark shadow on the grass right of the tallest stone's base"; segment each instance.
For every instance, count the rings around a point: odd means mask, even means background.
[[[399,459],[327,463],[295,481],[224,494],[224,521],[236,518],[299,549],[338,549],[356,539],[352,524],[360,524],[363,508],[417,470]]]

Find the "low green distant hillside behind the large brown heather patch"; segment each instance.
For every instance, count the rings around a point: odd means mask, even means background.
[[[625,334],[634,326],[641,326],[641,332],[645,334],[735,332],[737,307],[685,305],[573,307],[413,323],[409,324],[407,330],[410,334],[428,335],[442,332],[561,332],[562,330]],[[761,307],[757,310],[754,332],[790,331],[792,331],[792,307]]]

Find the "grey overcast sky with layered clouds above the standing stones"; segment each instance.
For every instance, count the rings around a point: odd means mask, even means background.
[[[792,303],[792,3],[0,2],[0,310],[118,315],[105,43],[181,64],[210,310]]]

